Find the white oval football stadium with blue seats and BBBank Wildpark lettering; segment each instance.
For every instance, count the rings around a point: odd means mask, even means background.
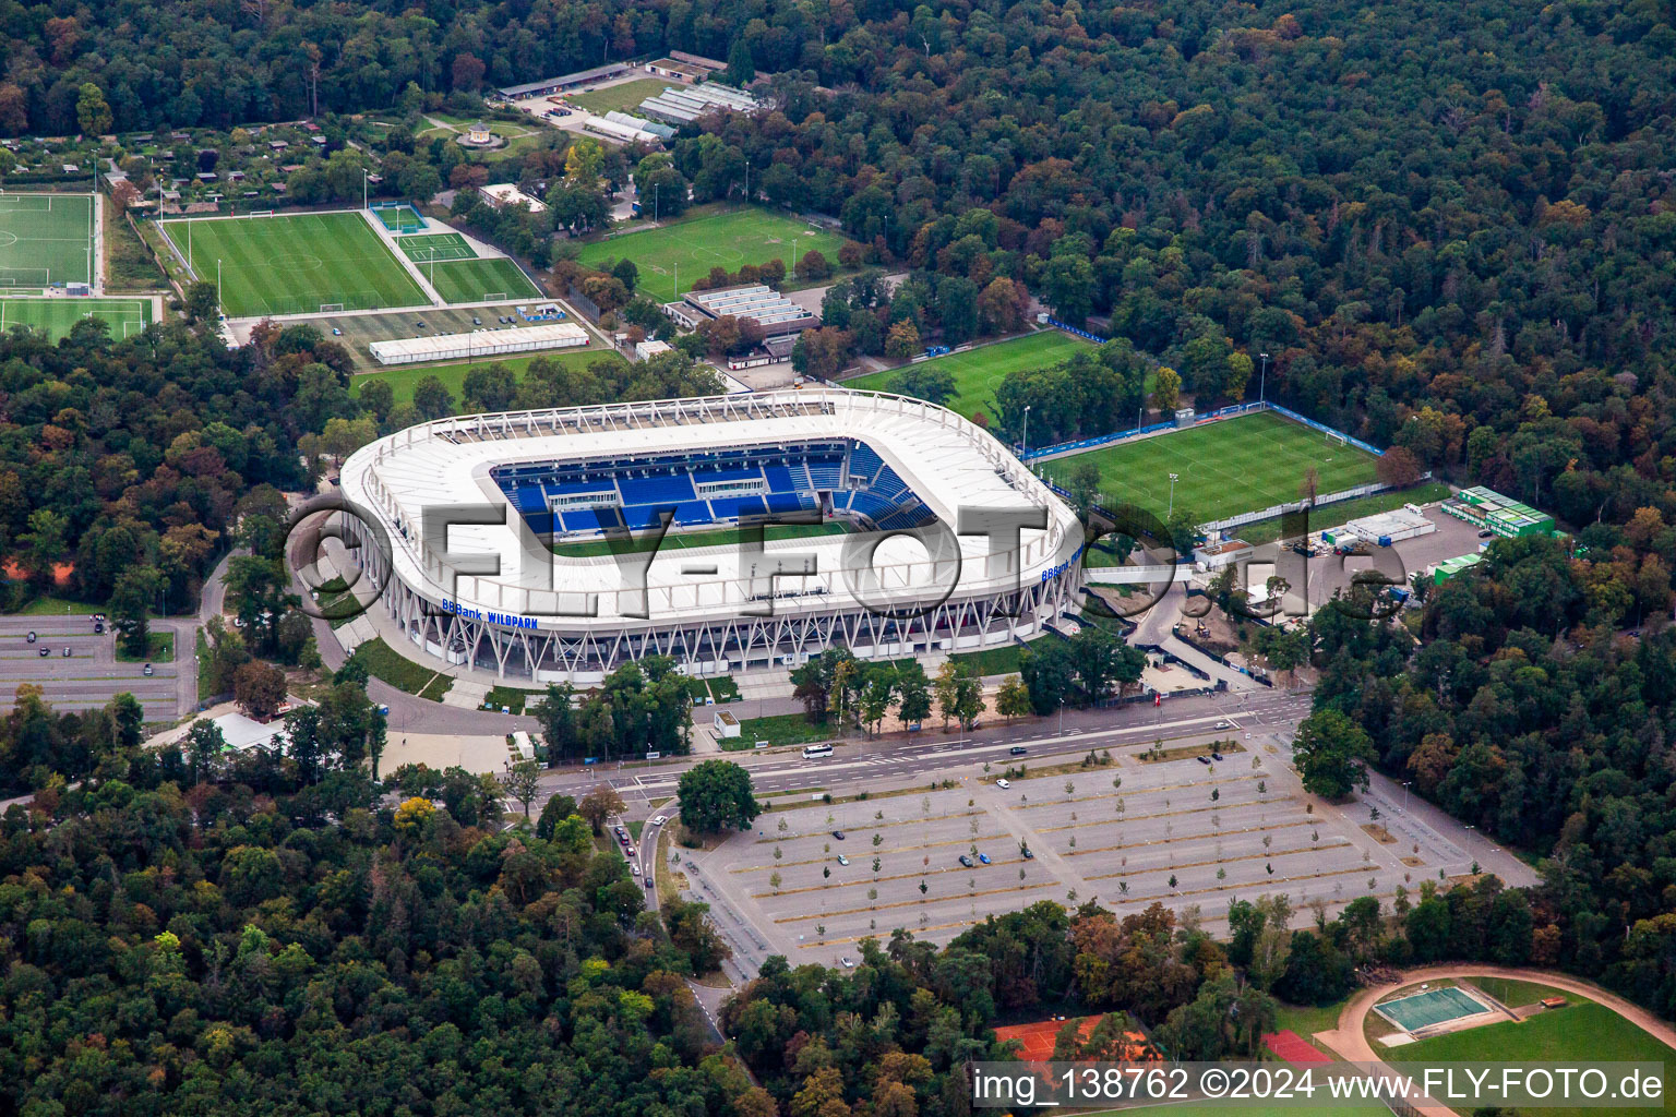
[[[362,447],[340,477],[374,608],[426,653],[506,678],[994,646],[1074,608],[1081,576],[1071,509],[985,430],[900,395],[461,415]],[[821,529],[768,531],[788,521]],[[721,543],[645,546],[660,529]]]

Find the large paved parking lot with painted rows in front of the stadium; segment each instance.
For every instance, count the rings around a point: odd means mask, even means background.
[[[830,963],[853,956],[868,934],[900,926],[945,943],[989,914],[1042,899],[1098,899],[1118,914],[1151,903],[1197,906],[1207,926],[1225,931],[1235,898],[1284,893],[1296,909],[1321,899],[1336,911],[1366,894],[1389,904],[1398,884],[1413,891],[1436,874],[1337,812],[1309,812],[1275,754],[1235,747],[1210,765],[1128,752],[1006,789],[992,782],[997,764],[947,790],[841,804],[786,795],[707,859],[706,879],[774,950]],[[851,780],[826,779],[835,792]]]

